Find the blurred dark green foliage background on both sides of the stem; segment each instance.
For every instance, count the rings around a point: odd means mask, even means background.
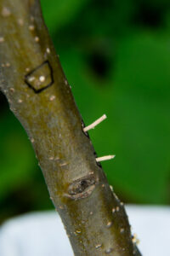
[[[170,2],[42,0],[109,182],[122,201],[170,203]],[[0,222],[53,208],[31,143],[0,95]]]

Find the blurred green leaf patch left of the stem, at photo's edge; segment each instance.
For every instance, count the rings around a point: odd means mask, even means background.
[[[13,113],[0,119],[0,200],[31,180],[35,156],[26,132]]]

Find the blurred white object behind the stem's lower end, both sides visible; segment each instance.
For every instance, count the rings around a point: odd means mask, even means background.
[[[170,207],[127,206],[143,256],[170,256]],[[32,212],[0,227],[1,256],[73,256],[56,212]]]

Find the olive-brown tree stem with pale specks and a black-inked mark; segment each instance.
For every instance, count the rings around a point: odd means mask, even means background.
[[[26,129],[75,255],[140,255],[97,164],[37,0],[0,0],[0,86]]]

